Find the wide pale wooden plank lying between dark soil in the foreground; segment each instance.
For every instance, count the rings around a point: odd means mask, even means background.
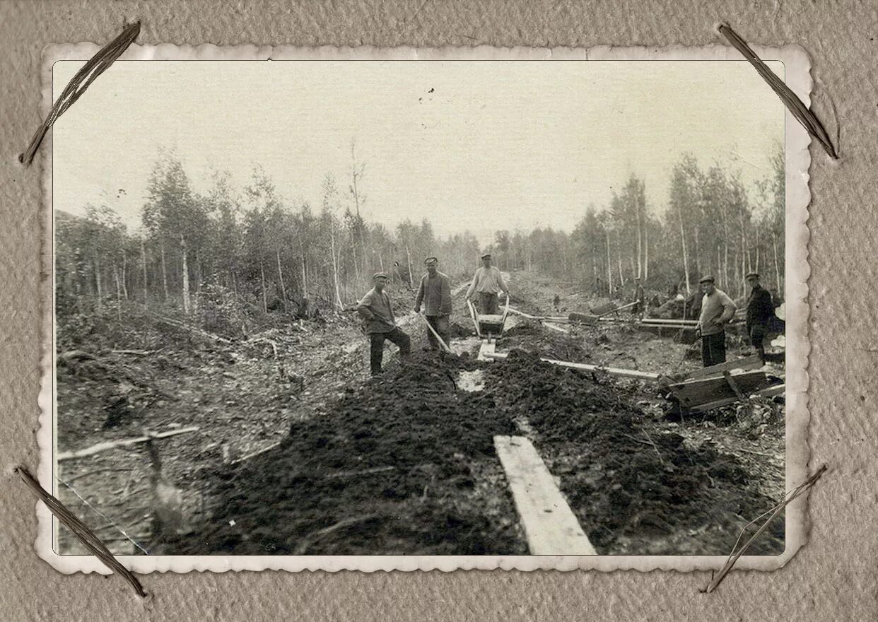
[[[536,447],[523,436],[495,436],[515,510],[533,555],[596,555]]]

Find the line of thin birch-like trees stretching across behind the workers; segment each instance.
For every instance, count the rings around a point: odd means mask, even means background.
[[[637,276],[647,289],[686,293],[712,274],[738,297],[745,274],[757,270],[783,296],[781,148],[770,174],[752,189],[736,173],[702,168],[686,155],[673,168],[661,216],[632,175],[605,209],[587,207],[572,232],[499,231],[486,248],[470,232],[441,238],[427,219],[403,220],[392,230],[365,220],[365,168],[353,148],[351,154],[349,178],[326,175],[318,205],[285,199],[260,168],[242,189],[230,175],[214,175],[201,194],[182,162],[165,155],[150,175],[136,231],[106,204],[85,206],[84,217],[57,211],[58,313],[119,308],[121,301],[177,304],[190,312],[210,296],[302,317],[353,304],[377,270],[416,287],[431,254],[444,272],[468,277],[485,250],[502,269],[534,270],[601,294],[630,289]]]

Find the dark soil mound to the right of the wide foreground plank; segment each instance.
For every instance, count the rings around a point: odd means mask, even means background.
[[[687,447],[660,430],[621,385],[511,352],[489,368],[500,407],[526,418],[540,452],[601,553],[728,553],[739,517],[755,518],[774,503],[755,490],[747,471],[709,443]],[[729,516],[733,517],[732,519]],[[710,551],[680,534],[711,531]],[[783,550],[783,525],[759,552]]]

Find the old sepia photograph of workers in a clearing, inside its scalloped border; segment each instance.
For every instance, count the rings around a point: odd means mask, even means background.
[[[728,554],[786,119],[746,61],[117,61],[52,137],[54,494],[122,555]]]

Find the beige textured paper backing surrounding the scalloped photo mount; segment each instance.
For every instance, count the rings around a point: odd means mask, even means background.
[[[874,268],[874,68],[870,3],[508,2],[0,4],[0,617],[18,619],[698,619],[859,620],[878,615]],[[103,43],[140,18],[140,43],[233,45],[690,46],[729,20],[752,43],[810,54],[812,105],[841,161],[811,147],[810,444],[830,471],[810,497],[810,542],[786,568],[708,573],[149,575],[141,601],[119,577],[64,576],[33,551],[33,499],[11,472],[35,470],[40,382],[40,167],[16,160],[39,124],[43,46]],[[838,120],[837,120],[838,119]]]

